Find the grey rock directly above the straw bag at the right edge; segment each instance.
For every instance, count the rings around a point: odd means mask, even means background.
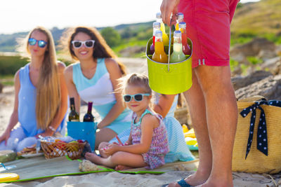
[[[235,91],[237,99],[261,95],[268,100],[281,100],[281,75],[269,76]]]

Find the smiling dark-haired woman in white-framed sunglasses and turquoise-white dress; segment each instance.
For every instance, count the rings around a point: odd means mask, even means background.
[[[80,98],[93,102],[93,108],[102,118],[96,134],[97,147],[131,125],[131,111],[125,109],[120,93],[114,92],[117,79],[126,70],[124,64],[115,60],[115,53],[95,28],[70,29],[63,36],[62,42],[65,41],[72,58],[79,60],[65,69],[67,89],[70,97],[74,97],[75,108],[79,112]]]

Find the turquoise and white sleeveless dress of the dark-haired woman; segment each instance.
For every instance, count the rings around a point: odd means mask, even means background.
[[[96,72],[92,78],[86,78],[81,71],[80,63],[73,64],[72,78],[81,99],[85,102],[93,102],[95,109],[101,118],[115,105],[116,99],[110,80],[110,74],[105,66],[105,59],[97,60]],[[131,126],[132,112],[124,109],[122,113],[107,128],[114,130],[117,134]]]

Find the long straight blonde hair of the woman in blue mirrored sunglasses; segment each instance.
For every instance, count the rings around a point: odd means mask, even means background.
[[[34,31],[39,31],[47,36],[47,47],[44,54],[37,83],[36,98],[36,118],[37,129],[46,130],[48,125],[55,117],[60,107],[60,78],[58,75],[58,64],[55,54],[55,44],[53,36],[48,29],[44,27],[36,27],[25,37],[24,48],[30,55],[28,48],[28,39]]]

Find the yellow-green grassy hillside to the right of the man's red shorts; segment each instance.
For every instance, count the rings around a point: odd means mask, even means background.
[[[281,1],[261,0],[241,4],[231,24],[233,37],[266,36],[270,40],[279,37],[281,43]]]

